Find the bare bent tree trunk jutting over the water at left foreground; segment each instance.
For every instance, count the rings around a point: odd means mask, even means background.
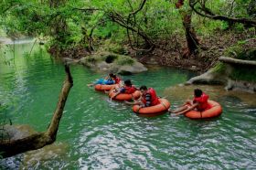
[[[22,139],[16,140],[1,140],[0,154],[3,157],[9,157],[16,154],[25,153],[30,150],[36,150],[50,143],[54,143],[59,128],[60,118],[62,116],[65,103],[68,99],[69,90],[73,86],[73,80],[69,71],[69,67],[65,66],[66,80],[64,81],[62,90],[59,95],[59,102],[56,111],[53,114],[52,120],[48,126],[47,132],[33,133]]]

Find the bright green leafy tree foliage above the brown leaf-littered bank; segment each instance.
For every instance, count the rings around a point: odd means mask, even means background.
[[[102,40],[150,49],[159,38],[182,37],[183,14],[205,36],[215,29],[255,27],[255,0],[4,0],[0,27],[10,37],[48,37],[61,48],[97,48]],[[178,6],[178,7],[177,7]]]

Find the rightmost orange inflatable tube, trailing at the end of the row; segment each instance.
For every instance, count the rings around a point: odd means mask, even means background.
[[[222,112],[222,108],[216,101],[208,101],[211,105],[211,108],[204,111],[204,112],[197,112],[197,111],[189,111],[185,113],[185,116],[191,119],[203,119],[203,118],[212,118],[219,116]]]

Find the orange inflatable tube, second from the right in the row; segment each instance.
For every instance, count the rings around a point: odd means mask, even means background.
[[[170,106],[171,103],[165,99],[159,99],[160,104],[157,104],[155,106],[149,106],[140,108],[139,105],[133,106],[133,112],[140,113],[140,114],[155,114],[159,112],[166,112]]]

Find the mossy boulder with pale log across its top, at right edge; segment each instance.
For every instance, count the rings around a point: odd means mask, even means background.
[[[256,92],[256,62],[236,58],[219,58],[214,68],[187,80],[186,84],[219,84],[225,90]]]

